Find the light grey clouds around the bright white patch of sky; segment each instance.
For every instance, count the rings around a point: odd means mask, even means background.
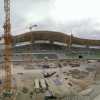
[[[59,23],[52,20],[50,17],[50,7],[54,0],[11,0],[11,19],[12,19],[12,31],[19,33],[26,28],[26,16],[29,13],[33,13],[34,16],[43,16],[44,19],[37,23],[31,22],[31,24],[38,24],[38,27],[34,30],[53,30],[60,32],[73,32],[77,37],[82,38],[94,38],[100,39],[100,32],[96,30],[96,27],[100,27],[100,23],[95,19],[87,18],[78,21],[70,21],[65,23]],[[3,0],[0,0],[0,33],[3,33],[4,12],[3,12]],[[16,32],[15,32],[16,31]]]

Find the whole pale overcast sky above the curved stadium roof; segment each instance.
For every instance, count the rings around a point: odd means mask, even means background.
[[[100,0],[11,0],[12,34],[34,30],[60,31],[81,38],[100,39]],[[3,34],[0,0],[0,34]]]

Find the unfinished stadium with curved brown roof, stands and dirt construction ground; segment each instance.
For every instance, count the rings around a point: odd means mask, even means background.
[[[12,87],[17,91],[16,100],[95,100],[100,94],[99,43],[100,40],[54,31],[13,36]],[[2,40],[1,47],[2,91],[5,76]]]

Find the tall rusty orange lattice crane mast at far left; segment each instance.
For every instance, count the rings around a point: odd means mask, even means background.
[[[10,23],[10,0],[4,0],[4,12],[5,12],[5,23],[4,23],[4,90],[11,91],[12,89],[12,72],[11,72],[11,56],[12,56],[12,36],[11,36],[11,23]]]

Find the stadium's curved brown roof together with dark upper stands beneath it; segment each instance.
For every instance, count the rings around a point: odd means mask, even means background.
[[[100,40],[81,39],[55,31],[31,31],[13,36],[13,50],[14,53],[45,53],[46,55],[52,53],[58,54],[61,58],[66,58],[66,55],[98,58]]]

